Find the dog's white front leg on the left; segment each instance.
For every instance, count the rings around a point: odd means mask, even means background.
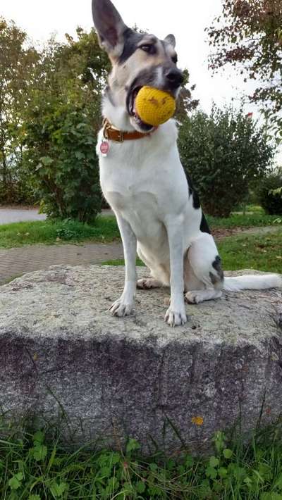
[[[131,312],[136,292],[136,237],[128,222],[116,214],[118,227],[123,240],[125,260],[125,283],[121,297],[114,302],[110,311],[114,316],[127,316]]]

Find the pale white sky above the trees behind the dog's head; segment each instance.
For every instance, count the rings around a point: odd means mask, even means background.
[[[209,44],[204,29],[221,13],[221,0],[114,0],[128,26],[137,25],[164,39],[168,33],[176,36],[178,65],[188,68],[190,85],[196,84],[193,97],[209,111],[212,103],[240,105],[240,98],[252,93],[252,85],[232,68],[224,68],[213,76],[208,69]],[[38,42],[56,33],[75,35],[75,27],[92,27],[91,0],[1,0],[0,15],[13,19]],[[245,112],[259,117],[258,108],[247,103]],[[281,156],[282,159],[282,156]]]

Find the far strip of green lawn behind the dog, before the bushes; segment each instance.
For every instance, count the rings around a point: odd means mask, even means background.
[[[261,212],[238,214],[229,218],[207,217],[212,229],[278,225],[277,215]],[[90,224],[66,221],[36,221],[0,225],[0,248],[13,248],[28,244],[62,244],[80,242],[113,242],[120,239],[116,219],[99,216]]]

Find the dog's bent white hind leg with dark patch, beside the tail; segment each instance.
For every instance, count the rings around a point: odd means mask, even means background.
[[[221,297],[223,271],[212,235],[203,233],[192,242],[185,258],[184,274],[185,299],[190,304]]]

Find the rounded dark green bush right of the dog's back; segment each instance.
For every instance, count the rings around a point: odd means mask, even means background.
[[[274,147],[262,127],[242,111],[215,106],[210,115],[197,111],[180,126],[183,166],[210,215],[228,217],[244,201],[251,181],[271,165]]]

